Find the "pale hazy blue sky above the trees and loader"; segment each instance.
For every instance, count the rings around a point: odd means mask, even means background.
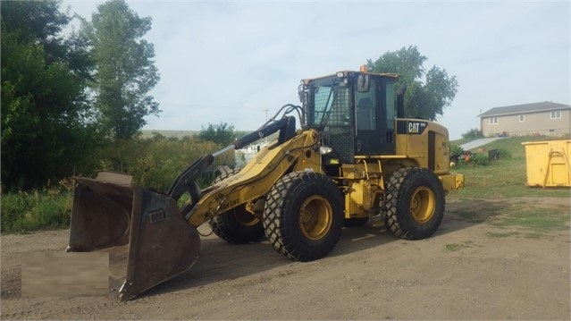
[[[104,1],[66,0],[90,20]],[[475,1],[127,1],[151,17],[162,112],[144,130],[199,131],[221,122],[256,130],[299,81],[358,70],[368,59],[416,46],[456,76],[458,93],[438,122],[450,139],[480,127],[497,106],[571,105],[571,4]]]

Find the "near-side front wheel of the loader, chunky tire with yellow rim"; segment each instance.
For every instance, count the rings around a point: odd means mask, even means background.
[[[341,192],[322,173],[289,173],[268,193],[265,236],[287,258],[312,261],[327,256],[339,241],[342,227]]]

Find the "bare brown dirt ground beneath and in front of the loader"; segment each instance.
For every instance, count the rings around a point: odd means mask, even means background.
[[[567,320],[569,229],[532,234],[491,224],[489,211],[498,219],[515,202],[449,200],[441,229],[423,241],[398,240],[381,228],[345,229],[327,258],[309,263],[281,257],[267,241],[233,246],[209,236],[189,271],[125,303],[21,297],[22,256],[62,251],[68,231],[3,235],[0,317]],[[569,215],[568,199],[536,203]],[[487,218],[461,215],[478,209]]]

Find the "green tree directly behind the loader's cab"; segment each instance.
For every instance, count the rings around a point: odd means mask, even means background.
[[[400,84],[407,85],[405,94],[405,116],[436,120],[450,106],[458,91],[456,76],[449,76],[445,69],[437,66],[425,72],[424,55],[416,46],[402,47],[395,52],[386,52],[374,62],[367,61],[371,72],[399,73]]]

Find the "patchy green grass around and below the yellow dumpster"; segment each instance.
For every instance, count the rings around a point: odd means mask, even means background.
[[[447,199],[460,205],[451,214],[467,222],[490,224],[499,229],[487,233],[495,238],[541,238],[553,232],[568,231],[571,189],[525,186],[525,146],[521,143],[541,140],[548,138],[498,139],[485,148],[505,150],[509,157],[500,156],[487,166],[462,165],[454,168],[453,172],[465,175],[466,186],[449,193]],[[477,152],[477,149],[472,151]],[[561,200],[550,202],[546,198]]]

